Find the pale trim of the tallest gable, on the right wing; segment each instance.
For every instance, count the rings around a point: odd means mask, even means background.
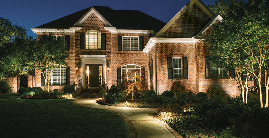
[[[203,2],[200,0],[190,0],[154,37],[160,37],[165,31],[167,31],[168,28],[170,28],[176,20],[178,20],[183,13],[185,13],[190,6],[195,3],[201,10],[203,10],[209,18],[212,18],[214,16],[214,13],[207,8],[206,5],[204,5]]]

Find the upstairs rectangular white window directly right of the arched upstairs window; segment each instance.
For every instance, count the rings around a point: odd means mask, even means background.
[[[123,44],[123,51],[138,51],[138,37],[123,36],[122,44]]]

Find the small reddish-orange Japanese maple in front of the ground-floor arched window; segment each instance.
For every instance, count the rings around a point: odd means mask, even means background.
[[[145,81],[144,72],[145,71],[141,69],[142,75],[140,75],[140,69],[133,69],[132,72],[122,74],[121,79],[123,81],[120,85],[120,90],[126,91],[127,94],[132,94],[132,99],[133,99],[135,92],[140,93],[144,89],[146,89],[146,81]],[[134,74],[136,74],[136,76]]]

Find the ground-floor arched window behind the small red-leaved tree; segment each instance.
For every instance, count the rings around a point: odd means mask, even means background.
[[[141,67],[137,65],[125,65],[121,67],[121,81],[136,81],[135,76],[141,76]]]

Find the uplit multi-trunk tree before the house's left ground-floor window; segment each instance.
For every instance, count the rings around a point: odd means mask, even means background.
[[[37,44],[29,50],[32,55],[30,57],[32,67],[38,69],[45,78],[45,91],[49,91],[49,80],[56,66],[66,65],[65,59],[69,55],[65,51],[65,45],[65,40],[54,40],[53,35],[49,33],[39,35]]]

